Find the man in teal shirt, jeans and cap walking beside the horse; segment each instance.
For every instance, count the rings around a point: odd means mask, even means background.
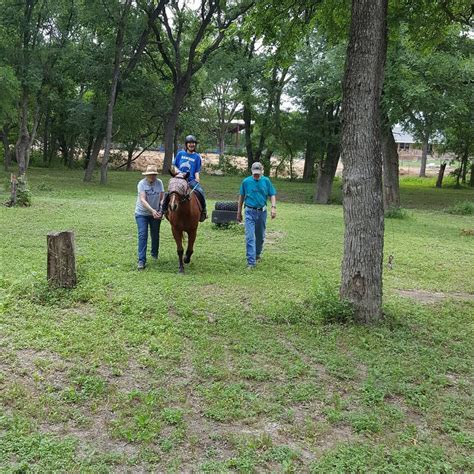
[[[237,220],[242,222],[242,206],[245,207],[245,242],[247,247],[247,268],[255,268],[263,250],[267,226],[267,200],[272,203],[271,217],[276,217],[276,191],[272,182],[263,176],[263,165],[252,165],[252,176],[240,185]]]

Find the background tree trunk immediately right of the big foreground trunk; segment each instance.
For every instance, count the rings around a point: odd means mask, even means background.
[[[398,151],[390,126],[384,124],[382,133],[383,203],[384,208],[400,207]]]

